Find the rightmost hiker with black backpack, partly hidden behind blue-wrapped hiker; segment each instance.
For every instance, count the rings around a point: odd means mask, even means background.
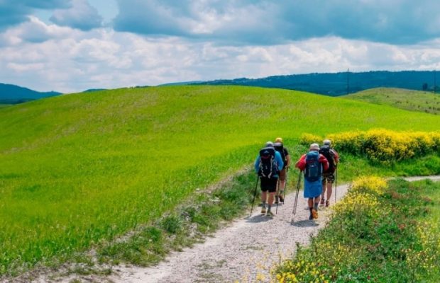
[[[331,141],[324,139],[323,146],[319,149],[319,153],[324,155],[329,161],[329,169],[322,173],[322,193],[321,193],[321,205],[329,207],[330,197],[332,192],[332,186],[335,180],[335,171],[339,163],[339,154],[331,147]],[[324,200],[325,193],[327,192],[327,198]]]

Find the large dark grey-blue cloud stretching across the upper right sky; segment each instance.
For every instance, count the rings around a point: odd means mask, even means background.
[[[176,35],[226,45],[273,45],[337,36],[414,44],[440,35],[440,2],[432,0],[118,0],[115,30]]]

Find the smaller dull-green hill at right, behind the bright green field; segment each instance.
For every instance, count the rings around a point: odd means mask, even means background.
[[[372,88],[353,93],[343,98],[391,105],[396,108],[440,114],[440,95],[426,91],[412,91],[402,88]]]

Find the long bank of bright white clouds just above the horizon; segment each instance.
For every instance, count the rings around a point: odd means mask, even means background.
[[[60,27],[58,27],[60,28]],[[70,29],[71,30],[71,29]],[[224,46],[98,29],[0,47],[4,82],[40,91],[83,91],[275,74],[439,68],[439,42],[394,45],[321,37],[273,46]]]

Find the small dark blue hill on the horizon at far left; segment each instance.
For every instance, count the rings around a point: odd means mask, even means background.
[[[39,92],[13,84],[0,83],[0,103],[4,104],[23,103],[29,100],[58,96],[60,94],[61,93],[55,91]]]

